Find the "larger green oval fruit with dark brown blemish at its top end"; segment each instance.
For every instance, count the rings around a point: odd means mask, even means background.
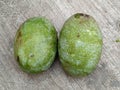
[[[86,76],[97,66],[102,34],[93,17],[77,13],[63,25],[58,52],[63,69],[72,76]]]

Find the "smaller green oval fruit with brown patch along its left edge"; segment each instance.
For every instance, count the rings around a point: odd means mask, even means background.
[[[20,67],[28,73],[47,70],[57,51],[57,33],[44,17],[25,21],[15,36],[14,54]]]

